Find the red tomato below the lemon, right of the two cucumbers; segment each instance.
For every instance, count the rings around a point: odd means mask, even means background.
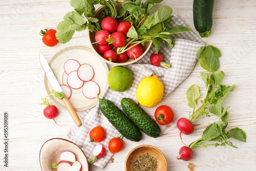
[[[174,112],[169,106],[161,105],[155,111],[155,118],[160,125],[167,125],[174,120]]]

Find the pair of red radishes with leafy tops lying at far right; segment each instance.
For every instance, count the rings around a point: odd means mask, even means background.
[[[199,87],[195,84],[190,86],[186,91],[186,97],[188,101],[187,104],[193,109],[193,112],[191,112],[189,119],[180,118],[177,122],[177,127],[180,130],[180,134],[191,134],[194,130],[192,123],[202,115],[209,116],[208,112],[205,112],[206,109],[208,109],[210,113],[218,116],[219,120],[206,127],[202,138],[190,143],[188,146],[181,147],[180,155],[177,158],[185,161],[193,157],[192,150],[196,147],[229,145],[237,148],[231,141],[227,141],[231,137],[246,142],[246,134],[238,127],[229,130],[227,133],[225,132],[228,125],[229,114],[227,110],[229,106],[224,107],[223,102],[229,92],[232,92],[236,86],[225,86],[221,84],[225,76],[223,71],[217,72],[220,67],[219,57],[221,56],[221,52],[218,48],[209,45],[207,47],[201,47],[196,55],[201,67],[209,72],[209,75],[203,72],[200,73],[205,83],[206,95],[205,98],[201,100],[199,108],[196,109],[197,100],[200,97]],[[212,143],[212,141],[217,143]]]

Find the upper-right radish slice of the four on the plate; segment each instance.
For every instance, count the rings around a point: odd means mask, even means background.
[[[94,77],[94,70],[89,64],[83,63],[77,69],[77,76],[82,81],[90,81]]]

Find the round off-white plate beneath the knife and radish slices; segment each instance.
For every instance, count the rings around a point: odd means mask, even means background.
[[[64,72],[63,65],[68,59],[75,59],[80,64],[88,63],[94,69],[94,77],[93,81],[97,82],[100,88],[99,97],[101,97],[102,93],[108,87],[108,74],[109,69],[105,62],[100,60],[90,48],[74,46],[60,50],[57,52],[49,61],[49,65],[57,78],[59,84],[67,85],[67,74]],[[51,83],[48,81],[45,75],[45,87],[47,93],[50,93],[53,90]],[[74,106],[76,111],[84,111],[93,108],[98,99],[88,99],[83,96],[82,89],[71,89],[72,95],[70,97],[70,102]],[[59,98],[54,96],[50,96],[53,102],[60,106],[60,108],[67,109],[65,104]]]

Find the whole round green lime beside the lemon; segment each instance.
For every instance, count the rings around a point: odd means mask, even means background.
[[[132,86],[133,73],[128,68],[116,66],[110,70],[108,81],[112,90],[124,92]]]

